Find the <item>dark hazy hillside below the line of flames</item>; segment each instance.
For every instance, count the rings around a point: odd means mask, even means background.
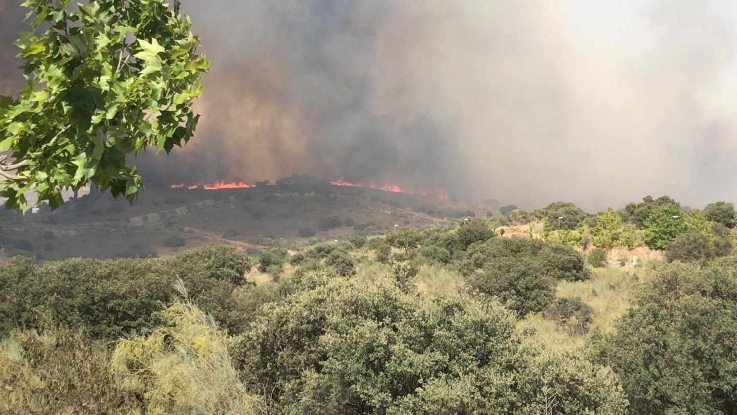
[[[133,205],[93,192],[55,212],[3,212],[2,260],[18,254],[40,259],[169,257],[182,248],[212,243],[255,254],[271,245],[296,248],[354,231],[447,225],[457,217],[485,215],[488,209],[378,189],[299,190],[150,189]]]

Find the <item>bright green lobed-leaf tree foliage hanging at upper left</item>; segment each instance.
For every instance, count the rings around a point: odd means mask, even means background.
[[[0,195],[25,193],[52,209],[88,181],[133,200],[143,186],[129,154],[167,153],[194,135],[200,77],[209,69],[189,18],[164,0],[27,0],[32,32],[21,49],[27,87],[0,97]],[[12,159],[12,161],[11,161]]]

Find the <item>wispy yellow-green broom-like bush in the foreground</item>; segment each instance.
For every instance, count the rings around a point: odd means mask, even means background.
[[[191,301],[161,315],[166,325],[115,347],[111,368],[122,387],[154,414],[255,414],[212,318]]]

